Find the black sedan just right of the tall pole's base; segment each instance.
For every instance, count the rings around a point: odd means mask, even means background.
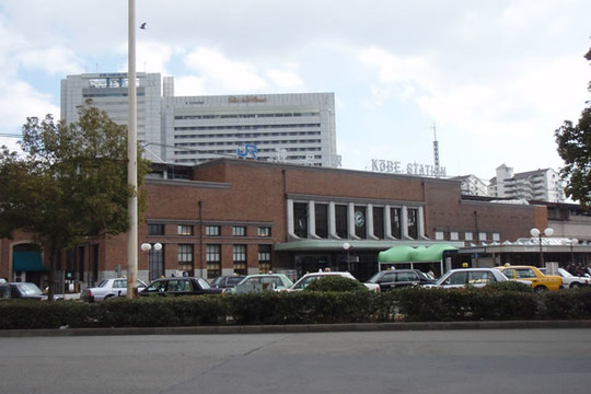
[[[140,297],[151,296],[202,296],[221,294],[223,289],[212,288],[204,278],[173,277],[152,281],[139,292]]]

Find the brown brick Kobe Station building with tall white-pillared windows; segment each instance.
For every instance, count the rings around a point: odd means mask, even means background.
[[[453,179],[236,159],[153,169],[139,224],[139,244],[158,245],[139,252],[146,281],[185,271],[299,277],[320,268],[366,280],[379,269],[379,252],[393,246],[500,244],[548,225],[545,206],[466,199]],[[475,264],[470,254],[448,257],[448,267]],[[91,239],[63,251],[58,269],[67,280],[95,283],[125,275],[126,258],[126,234]],[[441,262],[416,264],[444,270]],[[48,266],[26,234],[0,241],[0,277],[44,285]]]

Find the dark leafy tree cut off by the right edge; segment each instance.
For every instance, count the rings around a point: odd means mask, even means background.
[[[591,48],[584,57],[591,61]],[[558,154],[566,164],[560,171],[563,178],[567,179],[566,195],[583,207],[591,207],[591,101],[587,102],[579,123],[575,126],[572,121],[565,120],[555,131],[555,138]]]

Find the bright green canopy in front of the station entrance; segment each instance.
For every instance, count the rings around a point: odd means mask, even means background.
[[[443,254],[456,252],[457,247],[448,244],[433,244],[430,246],[399,245],[378,254],[380,270],[396,266],[418,268],[416,264],[438,263],[440,273],[443,273]]]

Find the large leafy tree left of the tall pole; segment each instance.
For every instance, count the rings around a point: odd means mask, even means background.
[[[23,153],[0,149],[0,237],[18,230],[33,235],[49,256],[53,298],[60,251],[129,228],[127,127],[88,101],[70,125],[51,115],[27,118],[19,143]],[[148,170],[138,160],[138,186]],[[141,192],[139,201],[141,210]]]

